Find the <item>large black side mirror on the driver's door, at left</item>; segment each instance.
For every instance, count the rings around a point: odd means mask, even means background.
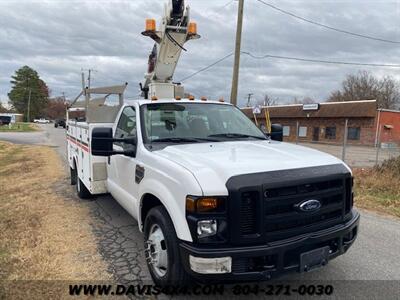
[[[131,144],[134,147],[131,151],[114,151],[114,142],[123,142]],[[91,146],[92,155],[95,156],[112,156],[118,154],[136,156],[136,139],[114,139],[112,128],[94,128],[92,131]]]

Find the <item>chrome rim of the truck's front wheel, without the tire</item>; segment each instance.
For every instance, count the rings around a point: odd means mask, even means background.
[[[164,233],[157,224],[151,226],[145,247],[146,259],[149,266],[159,277],[165,276],[168,271],[167,244]]]

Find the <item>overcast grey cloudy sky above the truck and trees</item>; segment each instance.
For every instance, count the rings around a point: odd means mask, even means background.
[[[264,0],[328,26],[400,41],[400,1]],[[153,41],[140,33],[146,18],[160,21],[167,0],[0,0],[0,100],[8,101],[18,68],[34,68],[52,96],[80,92],[82,70],[94,69],[92,86],[129,83],[126,97],[139,96]],[[189,41],[174,81],[232,53],[238,2],[186,0],[200,40]],[[345,62],[400,64],[400,43],[385,43],[327,30],[282,14],[257,0],[245,0],[242,51]],[[230,98],[233,57],[186,81],[196,97]],[[400,68],[317,64],[242,55],[239,105],[247,95],[265,94],[278,103],[294,97],[325,101],[346,74],[371,71],[400,80]]]

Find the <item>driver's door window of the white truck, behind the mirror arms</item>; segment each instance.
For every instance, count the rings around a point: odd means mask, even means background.
[[[114,138],[131,139],[136,138],[136,111],[133,107],[126,107],[121,114],[115,130]],[[133,150],[134,146],[122,142],[116,142],[115,145],[122,147],[124,150]]]

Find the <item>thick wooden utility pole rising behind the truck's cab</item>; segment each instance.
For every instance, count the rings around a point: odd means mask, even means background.
[[[235,65],[233,67],[233,78],[232,78],[232,91],[231,91],[231,103],[237,105],[237,94],[239,85],[239,67],[240,67],[240,50],[242,44],[242,28],[243,28],[243,9],[244,0],[239,0],[238,8],[238,21],[236,29],[236,45],[235,45]]]

